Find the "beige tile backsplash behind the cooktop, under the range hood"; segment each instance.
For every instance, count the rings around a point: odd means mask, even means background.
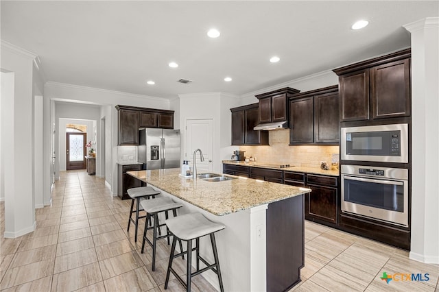
[[[256,157],[257,162],[300,167],[320,167],[320,161],[331,165],[333,154],[339,153],[339,146],[289,146],[289,131],[269,132],[270,146],[240,146],[246,157]],[[335,156],[337,157],[337,156]]]

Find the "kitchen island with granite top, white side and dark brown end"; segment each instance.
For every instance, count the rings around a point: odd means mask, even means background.
[[[217,233],[226,291],[285,291],[300,282],[304,265],[303,195],[309,188],[227,175],[209,182],[179,176],[180,169],[128,171],[184,205],[179,213],[201,212],[226,229]],[[209,239],[201,253],[213,260]],[[212,271],[204,278],[218,288]]]

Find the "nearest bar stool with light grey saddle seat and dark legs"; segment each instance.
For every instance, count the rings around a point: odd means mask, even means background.
[[[167,267],[165,289],[167,289],[167,284],[169,282],[169,275],[172,272],[176,276],[178,282],[180,282],[183,287],[189,292],[191,291],[191,278],[197,276],[198,274],[212,269],[218,276],[219,289],[224,292],[224,287],[222,284],[221,270],[219,269],[219,260],[217,252],[217,244],[215,242],[215,232],[223,230],[226,226],[220,223],[214,223],[209,221],[201,213],[190,213],[186,215],[181,215],[178,218],[172,218],[165,221],[169,231],[174,234],[174,239],[172,239],[171,255],[169,256],[169,265]],[[200,237],[210,235],[213,257],[215,263],[210,264],[204,258],[200,256]],[[187,251],[180,252],[180,254],[175,254],[176,241],[180,239],[182,241],[187,241]],[[195,239],[196,247],[192,248],[192,241]],[[196,271],[192,273],[192,251],[196,252]],[[176,271],[172,268],[172,261],[178,256],[187,254],[187,271],[186,271],[186,283],[178,276]],[[200,260],[206,265],[203,269],[200,269]]]

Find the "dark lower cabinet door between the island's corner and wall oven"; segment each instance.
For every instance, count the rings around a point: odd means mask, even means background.
[[[337,188],[308,184],[311,193],[307,194],[305,214],[316,219],[337,223]]]

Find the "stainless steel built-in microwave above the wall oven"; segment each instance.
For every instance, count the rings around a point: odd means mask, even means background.
[[[342,127],[342,160],[409,162],[408,124]]]

